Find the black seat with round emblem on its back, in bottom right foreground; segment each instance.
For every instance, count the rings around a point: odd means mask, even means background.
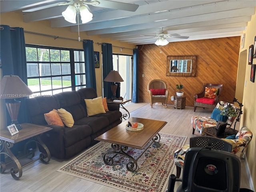
[[[166,192],[174,191],[176,181],[182,182],[177,192],[239,192],[240,169],[240,159],[230,152],[189,148],[182,180],[171,174]]]

